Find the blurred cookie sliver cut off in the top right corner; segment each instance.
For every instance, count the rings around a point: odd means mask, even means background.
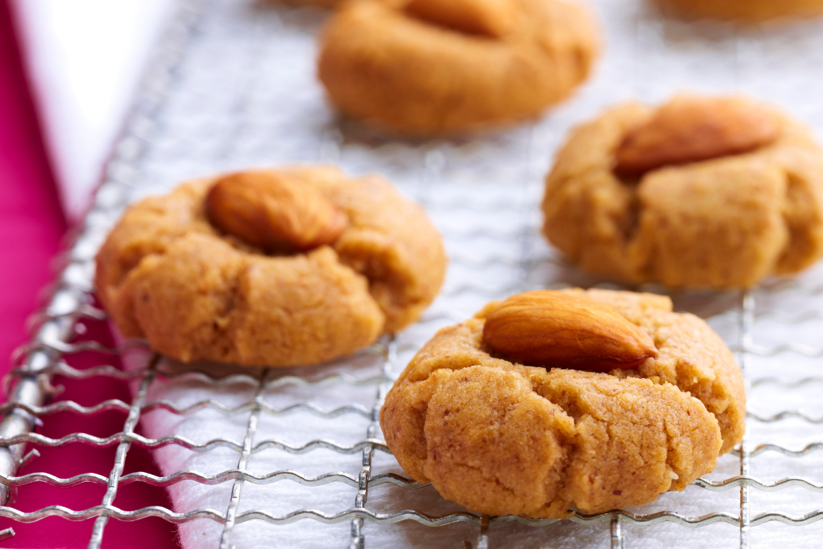
[[[658,0],[696,16],[743,21],[766,21],[775,17],[816,16],[823,13],[823,0]]]

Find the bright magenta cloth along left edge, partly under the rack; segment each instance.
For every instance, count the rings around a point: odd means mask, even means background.
[[[38,292],[53,278],[49,261],[58,251],[66,229],[12,31],[7,2],[0,0],[0,356],[6,357],[28,339],[24,328],[26,317],[40,305]],[[91,327],[90,335],[105,340],[109,333],[100,332],[103,329]],[[80,356],[74,365],[81,367],[95,358]],[[0,361],[0,374],[5,374],[7,369],[8,361]],[[57,381],[66,386],[60,398],[81,404],[90,405],[105,398],[129,401],[125,384],[109,379],[81,384],[63,379]],[[55,438],[73,431],[106,436],[121,430],[124,420],[125,416],[119,412],[86,420],[75,414],[55,414],[46,418],[40,432]],[[114,463],[114,448],[94,449],[70,444],[63,449],[39,450],[40,458],[27,464],[18,474],[50,472],[58,477],[70,477],[81,472],[99,472],[108,476]],[[133,448],[129,452],[126,472],[136,470],[156,473],[146,450]],[[46,505],[86,509],[100,505],[104,493],[105,486],[84,484],[55,488],[38,482],[21,487],[14,506],[25,511]],[[137,509],[146,505],[169,507],[170,502],[162,488],[134,483],[119,491],[114,505],[121,509]],[[72,523],[53,518],[21,524],[0,519],[0,528],[12,526],[16,531],[16,536],[0,542],[0,546],[31,549],[86,547],[93,522]],[[174,526],[161,519],[132,523],[111,520],[103,546],[132,549],[179,547],[174,535]]]

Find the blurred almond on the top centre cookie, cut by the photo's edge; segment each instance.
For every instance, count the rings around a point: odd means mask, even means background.
[[[500,38],[517,19],[512,0],[412,0],[407,14],[472,35]]]

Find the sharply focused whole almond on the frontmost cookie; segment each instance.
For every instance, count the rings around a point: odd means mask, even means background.
[[[512,295],[486,316],[483,341],[524,365],[608,372],[658,356],[648,333],[610,305],[560,291]]]

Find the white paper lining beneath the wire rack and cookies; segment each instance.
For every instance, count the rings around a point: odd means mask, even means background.
[[[658,101],[674,91],[746,91],[773,100],[802,119],[823,128],[823,21],[741,29],[724,23],[684,21],[657,12],[643,2],[597,0],[605,51],[593,79],[564,105],[535,123],[457,140],[407,141],[381,137],[340,121],[323,100],[314,77],[314,39],[325,13],[311,9],[264,6],[249,2],[211,2],[198,33],[188,44],[184,64],[170,88],[160,132],[134,178],[133,198],[162,192],[179,180],[214,170],[284,162],[332,161],[351,174],[378,172],[408,197],[421,202],[444,235],[452,263],[442,295],[421,323],[398,335],[398,356],[390,375],[398,375],[413,353],[438,328],[473,314],[487,300],[515,291],[554,284],[592,286],[607,281],[590,277],[558,262],[538,235],[542,177],[556,147],[571,125],[588,119],[617,100]],[[750,412],[768,419],[785,410],[823,414],[821,384],[796,384],[817,375],[821,359],[795,349],[821,347],[823,322],[815,311],[823,299],[812,291],[823,284],[820,268],[795,283],[772,281],[754,293],[756,323],[751,339],[756,353],[748,360]],[[661,291],[659,288],[651,288]],[[728,342],[739,347],[741,296],[738,293],[680,293],[676,307],[709,319]],[[776,313],[776,314],[775,314]],[[797,321],[801,322],[789,322]],[[762,356],[760,356],[762,355]],[[134,355],[137,364],[142,359]],[[202,365],[198,365],[200,367]],[[161,370],[179,369],[164,361]],[[345,374],[364,380],[381,375],[376,355],[359,355],[332,365],[292,369],[277,375],[317,380]],[[254,370],[249,370],[253,374]],[[256,375],[256,374],[253,374]],[[777,378],[778,382],[767,378]],[[275,408],[310,402],[322,410],[355,404],[370,410],[374,384],[295,384],[273,386],[263,394]],[[158,378],[149,400],[178,405],[213,399],[226,407],[253,398],[254,388],[238,382],[215,386],[195,377]],[[241,442],[248,412],[226,416],[204,408],[186,416],[154,410],[142,416],[142,434],[178,434],[202,443],[216,436]],[[300,445],[328,438],[340,444],[365,439],[370,420],[357,413],[321,418],[296,411],[284,416],[263,412],[254,444],[280,440]],[[798,418],[747,423],[751,449],[783,444],[802,449],[823,440],[818,423]],[[381,435],[378,435],[381,436]],[[214,449],[195,453],[178,446],[156,450],[163,474],[193,469],[217,474],[236,468],[239,453]],[[763,482],[808,477],[823,482],[821,455],[797,458],[763,452],[751,458],[752,476]],[[249,460],[258,475],[292,469],[306,476],[328,472],[360,472],[361,456],[314,449],[290,454],[264,449]],[[402,474],[393,458],[374,453],[372,474]],[[709,479],[719,481],[740,472],[737,456],[726,455]],[[225,512],[231,482],[204,486],[185,481],[169,488],[174,510],[210,508]],[[351,509],[356,488],[342,482],[303,486],[283,480],[267,485],[246,483],[238,512],[260,509],[282,516],[297,509],[337,513]],[[779,491],[750,490],[751,516],[780,512],[793,517],[823,508],[820,492],[790,486]],[[725,512],[739,514],[740,491],[709,491],[690,486],[658,501],[630,509],[636,514],[674,511],[686,517]],[[391,484],[370,488],[367,508],[379,513],[416,509],[442,515],[463,510],[443,500],[430,487],[407,490]],[[609,547],[608,523],[570,522],[532,528],[506,523],[492,528],[490,547]],[[751,547],[819,547],[823,523],[802,528],[770,522],[751,528]],[[715,523],[686,528],[674,523],[625,525],[627,547],[739,547],[736,526]],[[217,547],[222,525],[208,519],[184,523],[180,541],[186,549]],[[412,521],[393,525],[366,523],[367,547],[461,547],[477,543],[475,526],[457,523],[430,528]],[[347,547],[348,521],[324,524],[311,519],[288,525],[250,520],[235,526],[231,543],[255,547]],[[475,546],[477,547],[477,546]]]

